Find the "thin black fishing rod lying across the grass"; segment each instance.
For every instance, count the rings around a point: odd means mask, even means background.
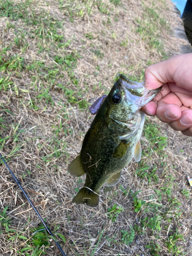
[[[23,189],[22,185],[20,185],[19,181],[16,179],[16,177],[14,176],[14,174],[12,173],[11,169],[9,168],[8,164],[6,163],[5,159],[3,158],[2,154],[0,153],[0,158],[3,160],[3,162],[5,163],[5,166],[8,168],[10,174],[13,176],[14,180],[16,181],[17,185],[20,187],[20,189],[22,190],[22,192],[24,193],[24,196],[27,198],[28,202],[30,203],[30,205],[33,207],[34,211],[36,212],[37,216],[39,217],[40,221],[42,222],[42,224],[44,224],[46,230],[48,231],[48,233],[50,234],[51,237],[53,237],[53,241],[55,242],[56,246],[58,247],[59,251],[62,253],[63,256],[66,256],[65,252],[63,252],[62,248],[60,247],[60,245],[57,243],[57,241],[55,240],[51,230],[49,229],[49,227],[46,225],[45,221],[41,218],[38,210],[36,209],[36,207],[33,205],[33,203],[31,202],[30,198],[28,197],[28,195],[26,194],[25,190]]]

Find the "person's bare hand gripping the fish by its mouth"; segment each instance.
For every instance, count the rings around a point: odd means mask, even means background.
[[[161,92],[143,107],[176,131],[192,136],[192,53],[159,62],[145,70],[145,88]]]

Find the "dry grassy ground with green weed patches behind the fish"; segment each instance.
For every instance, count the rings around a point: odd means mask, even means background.
[[[168,0],[0,2],[0,150],[68,255],[191,250],[186,137],[148,118],[142,160],[103,186],[93,209],[72,205],[84,177],[67,173],[88,130],[87,100],[109,92],[116,74],[143,80],[148,65],[179,52],[174,15]],[[58,255],[43,232],[45,243],[30,238],[40,222],[4,165],[0,183],[0,254],[42,255],[42,245]]]

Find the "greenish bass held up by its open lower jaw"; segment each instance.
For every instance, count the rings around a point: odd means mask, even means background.
[[[160,90],[148,91],[144,82],[131,81],[121,74],[109,94],[102,98],[99,108],[95,106],[97,113],[84,137],[80,154],[68,166],[68,172],[74,177],[86,174],[86,181],[73,203],[96,207],[101,186],[104,183],[114,186],[120,181],[122,169],[133,158],[140,161],[145,119],[141,108]]]

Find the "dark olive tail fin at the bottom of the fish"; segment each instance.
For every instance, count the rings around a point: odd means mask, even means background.
[[[82,187],[72,202],[76,204],[87,204],[88,206],[95,207],[99,203],[99,195],[87,187]]]

